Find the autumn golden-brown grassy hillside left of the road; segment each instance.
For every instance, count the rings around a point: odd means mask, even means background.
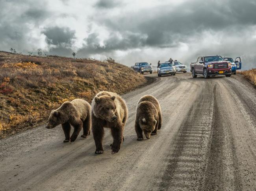
[[[102,90],[124,94],[145,77],[113,61],[31,57],[0,52],[0,138],[42,124],[64,101],[91,101]]]

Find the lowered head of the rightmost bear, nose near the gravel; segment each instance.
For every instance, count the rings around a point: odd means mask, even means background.
[[[150,139],[151,132],[155,130],[156,119],[152,117],[142,117],[139,119],[139,126],[143,130],[147,139]]]

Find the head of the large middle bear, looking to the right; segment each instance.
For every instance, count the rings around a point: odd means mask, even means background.
[[[93,112],[96,117],[104,119],[109,122],[114,122],[117,119],[116,116],[116,104],[115,96],[100,96],[94,98],[95,105]]]

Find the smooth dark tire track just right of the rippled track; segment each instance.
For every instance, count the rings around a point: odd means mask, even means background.
[[[239,191],[240,177],[236,172],[236,154],[229,121],[226,118],[227,110],[222,110],[224,100],[221,99],[220,86],[214,86],[213,121],[211,128],[211,143],[207,153],[208,165],[205,172],[205,181],[200,190],[233,190]]]

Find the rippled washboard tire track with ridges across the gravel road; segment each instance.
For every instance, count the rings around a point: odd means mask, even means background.
[[[205,82],[206,83],[206,82]],[[204,178],[213,118],[213,92],[204,84],[173,142],[160,190],[197,190]],[[171,145],[172,146],[172,145]]]

